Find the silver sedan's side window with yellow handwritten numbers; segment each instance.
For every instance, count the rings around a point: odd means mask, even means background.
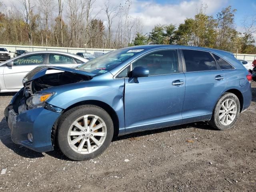
[[[40,55],[30,55],[18,59],[14,59],[13,65],[19,66],[19,65],[42,65],[44,62],[44,54]]]

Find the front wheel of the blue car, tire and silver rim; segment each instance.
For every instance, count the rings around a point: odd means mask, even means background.
[[[102,154],[113,134],[112,119],[104,109],[82,105],[62,115],[57,128],[57,142],[65,156],[82,161]]]

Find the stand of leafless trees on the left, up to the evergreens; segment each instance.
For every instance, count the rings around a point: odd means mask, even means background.
[[[19,0],[0,12],[0,43],[78,48],[121,48],[142,31],[140,18],[130,16],[132,0],[106,1],[94,13],[97,0]]]

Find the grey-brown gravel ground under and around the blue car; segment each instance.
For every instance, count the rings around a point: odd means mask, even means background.
[[[0,191],[256,191],[256,83],[226,131],[204,122],[119,137],[98,158],[70,161],[12,143],[0,95]]]

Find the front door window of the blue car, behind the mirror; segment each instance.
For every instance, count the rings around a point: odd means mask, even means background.
[[[132,70],[142,66],[149,69],[149,75],[178,73],[176,50],[162,50],[150,53],[132,63]]]

